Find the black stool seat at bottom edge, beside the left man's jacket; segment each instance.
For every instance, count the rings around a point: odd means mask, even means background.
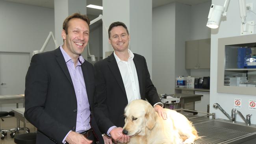
[[[15,135],[15,144],[35,144],[37,138],[36,133],[24,133],[21,135]]]

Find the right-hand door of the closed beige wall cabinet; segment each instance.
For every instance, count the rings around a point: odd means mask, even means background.
[[[210,68],[211,39],[198,40],[198,68]]]

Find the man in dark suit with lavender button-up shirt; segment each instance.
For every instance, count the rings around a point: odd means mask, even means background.
[[[86,15],[70,15],[63,22],[63,45],[32,57],[24,116],[37,127],[37,144],[104,144],[94,117],[94,68],[81,55],[89,24]]]

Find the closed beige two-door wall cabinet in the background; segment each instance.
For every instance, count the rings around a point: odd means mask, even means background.
[[[211,39],[186,41],[186,69],[210,68]]]

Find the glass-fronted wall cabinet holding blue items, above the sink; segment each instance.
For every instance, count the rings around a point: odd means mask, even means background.
[[[256,35],[219,39],[217,92],[256,95]]]

